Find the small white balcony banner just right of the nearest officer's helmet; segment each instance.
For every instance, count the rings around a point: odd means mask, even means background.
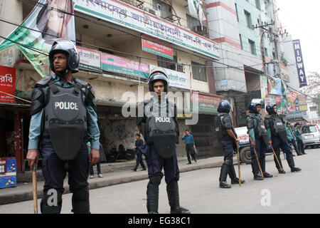
[[[80,68],[91,71],[102,71],[101,52],[77,46],[80,57]]]

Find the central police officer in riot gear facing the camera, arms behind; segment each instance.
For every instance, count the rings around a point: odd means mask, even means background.
[[[190,214],[188,209],[180,207],[179,202],[179,170],[176,157],[179,130],[176,104],[164,99],[168,87],[168,76],[164,69],[154,68],[149,77],[149,91],[153,98],[139,103],[139,109],[143,109],[144,113],[137,118],[137,128],[146,141],[140,150],[146,157],[149,175],[146,207],[149,214],[158,214],[159,185],[163,177],[161,170],[164,168],[170,213]]]

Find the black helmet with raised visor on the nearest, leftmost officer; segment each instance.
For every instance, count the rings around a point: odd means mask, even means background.
[[[79,71],[79,53],[75,44],[65,38],[58,38],[53,42],[52,48],[49,52],[50,68],[55,73],[55,68],[53,67],[53,55],[55,53],[65,53],[68,56],[67,69],[73,73]]]

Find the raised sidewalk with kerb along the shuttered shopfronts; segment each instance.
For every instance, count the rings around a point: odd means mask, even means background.
[[[178,167],[180,172],[188,172],[193,170],[200,170],[212,167],[220,167],[223,164],[223,157],[209,157],[198,160],[194,162],[192,160],[191,165],[186,165],[188,161],[186,157],[178,157]],[[237,163],[237,158],[234,157],[235,164]],[[147,171],[133,172],[131,169],[134,167],[135,161],[130,162],[117,162],[117,163],[103,163],[101,164],[102,175],[104,177],[97,177],[96,168],[95,178],[88,179],[90,190],[100,187],[107,187],[110,185],[119,185],[127,182],[134,182],[138,180],[148,179]],[[113,171],[113,172],[112,172]],[[43,197],[43,178],[41,177],[41,171],[37,172],[37,192],[38,199]],[[31,172],[26,173],[26,177],[30,177]],[[68,187],[68,177],[65,178],[64,182],[65,192],[63,194],[70,193]],[[15,202],[21,202],[33,199],[33,187],[32,182],[18,182],[16,187],[0,189],[0,205],[1,204],[11,204]]]

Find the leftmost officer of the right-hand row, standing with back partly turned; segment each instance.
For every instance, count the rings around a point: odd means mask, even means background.
[[[219,187],[230,188],[227,176],[231,179],[231,184],[238,184],[239,179],[235,173],[233,166],[233,151],[237,150],[236,143],[239,143],[233,123],[231,121],[230,112],[231,105],[228,100],[221,100],[218,106],[218,115],[215,117],[215,131],[218,132],[220,145],[223,147],[223,165],[220,170]],[[241,180],[242,184],[245,180]]]

